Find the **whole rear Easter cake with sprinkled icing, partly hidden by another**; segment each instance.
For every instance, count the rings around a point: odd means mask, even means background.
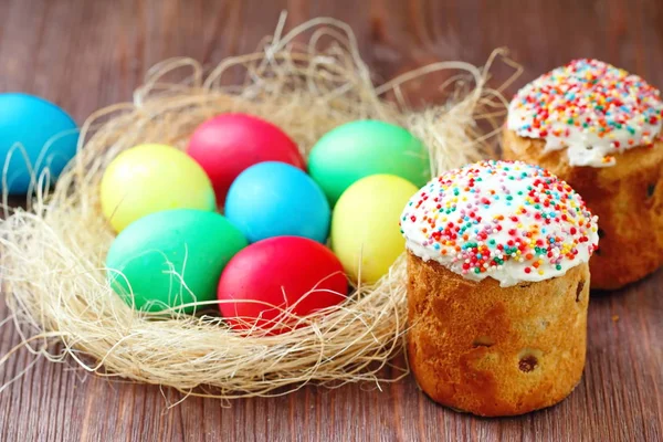
[[[601,220],[592,288],[619,288],[663,264],[663,102],[638,75],[576,60],[509,105],[504,157],[545,167]]]

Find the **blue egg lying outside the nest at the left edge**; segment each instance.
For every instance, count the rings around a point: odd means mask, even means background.
[[[0,177],[7,170],[0,190],[24,194],[31,171],[39,179],[44,169],[50,185],[76,154],[77,143],[76,123],[56,105],[33,95],[0,94]]]

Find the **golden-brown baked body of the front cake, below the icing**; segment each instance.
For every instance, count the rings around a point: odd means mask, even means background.
[[[585,367],[587,263],[501,287],[408,253],[410,367],[434,401],[484,417],[552,406]]]

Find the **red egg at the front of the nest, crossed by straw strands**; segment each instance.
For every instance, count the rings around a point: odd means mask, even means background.
[[[287,324],[341,303],[347,280],[332,251],[299,236],[270,238],[249,245],[219,280],[219,309],[235,329],[257,326],[281,333]],[[288,309],[294,316],[283,314]]]

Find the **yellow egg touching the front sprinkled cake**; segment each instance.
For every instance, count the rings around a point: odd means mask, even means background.
[[[340,196],[332,217],[332,250],[354,281],[375,283],[404,251],[398,222],[418,190],[403,178],[371,175]]]

